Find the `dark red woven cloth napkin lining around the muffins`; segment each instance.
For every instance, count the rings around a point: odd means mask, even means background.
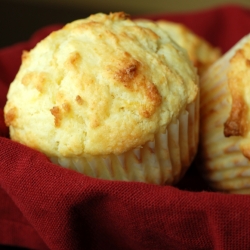
[[[182,22],[228,50],[250,10],[150,16]],[[250,196],[212,192],[194,166],[177,187],[97,180],[8,139],[2,108],[21,52],[59,26],[0,50],[0,244],[30,249],[249,249]]]

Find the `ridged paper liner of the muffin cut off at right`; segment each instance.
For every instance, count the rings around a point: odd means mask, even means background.
[[[227,82],[229,60],[246,39],[237,43],[201,78],[200,154],[201,172],[215,190],[250,193],[250,161],[240,150],[241,137],[224,136],[224,123],[231,110]]]

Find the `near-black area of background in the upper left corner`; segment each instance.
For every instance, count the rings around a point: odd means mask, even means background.
[[[90,14],[92,14],[91,10],[82,11],[0,0],[0,48],[29,39],[41,27],[57,23],[64,24]]]

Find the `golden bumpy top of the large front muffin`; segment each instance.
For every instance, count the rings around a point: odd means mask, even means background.
[[[24,52],[5,121],[47,155],[120,154],[164,132],[197,93],[187,53],[160,27],[99,13]]]

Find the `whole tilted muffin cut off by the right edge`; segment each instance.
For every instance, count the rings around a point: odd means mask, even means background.
[[[215,189],[250,193],[250,35],[201,77],[201,171]]]

